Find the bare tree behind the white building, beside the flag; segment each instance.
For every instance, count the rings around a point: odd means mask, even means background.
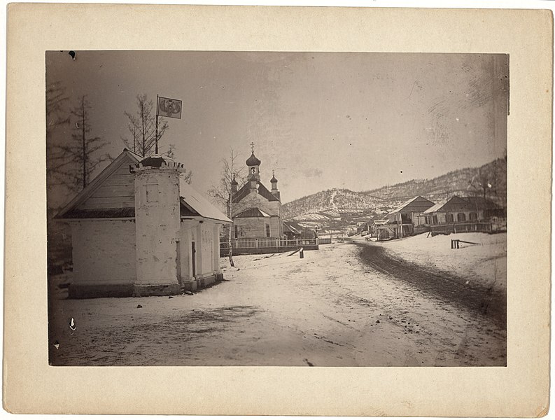
[[[125,112],[127,117],[127,130],[130,137],[122,137],[125,145],[141,156],[152,155],[156,143],[156,110],[152,100],[146,94],[136,97],[136,112]],[[168,123],[164,118],[158,118],[158,142],[168,130]]]

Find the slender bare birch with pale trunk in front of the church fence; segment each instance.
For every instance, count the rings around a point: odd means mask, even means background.
[[[228,158],[223,158],[222,172],[220,182],[213,185],[209,191],[208,195],[212,198],[212,201],[220,204],[220,206],[225,207],[227,210],[227,217],[232,218],[233,214],[233,183],[237,183],[236,186],[241,188],[245,183],[244,167],[239,167],[237,165],[238,155],[230,148],[230,156]],[[230,249],[230,265],[234,267],[233,263],[233,251],[231,246],[233,225],[230,226],[227,235],[228,246]]]

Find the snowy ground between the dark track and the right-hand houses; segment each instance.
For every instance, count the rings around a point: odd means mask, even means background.
[[[356,238],[360,241],[360,237]],[[461,248],[451,249],[451,239],[474,244],[461,243]],[[469,232],[435,237],[423,233],[376,244],[403,260],[465,277],[470,284],[507,289],[507,233]]]

